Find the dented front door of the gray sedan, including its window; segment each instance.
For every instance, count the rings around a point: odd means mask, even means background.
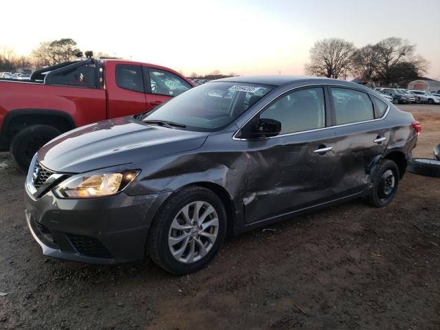
[[[260,118],[281,122],[281,133],[245,142],[250,168],[243,199],[246,223],[333,198],[338,160],[327,109],[326,89],[314,87],[288,92],[261,111]]]

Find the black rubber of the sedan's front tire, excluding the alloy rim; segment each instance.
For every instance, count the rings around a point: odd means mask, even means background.
[[[181,208],[192,201],[207,201],[214,207],[219,219],[219,231],[214,245],[206,256],[193,263],[182,263],[177,261],[170,252],[170,248],[168,247],[168,232],[174,217]],[[219,252],[223,239],[225,238],[226,217],[225,207],[221,199],[212,192],[212,190],[200,186],[188,186],[187,188],[183,188],[175,192],[157,212],[148,232],[146,254],[148,254],[150,259],[159,265],[159,267],[175,275],[181,276],[196,272],[210,263],[217,252]]]

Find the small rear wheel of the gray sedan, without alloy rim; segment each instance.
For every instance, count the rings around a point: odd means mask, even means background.
[[[382,159],[373,174],[373,188],[367,201],[377,208],[387,206],[396,195],[399,177],[397,164],[390,159]]]

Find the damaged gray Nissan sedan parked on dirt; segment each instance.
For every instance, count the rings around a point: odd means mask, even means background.
[[[34,156],[26,219],[47,256],[207,265],[226,234],[365,197],[391,203],[420,123],[355,83],[212,81],[149,113],[56,137]]]

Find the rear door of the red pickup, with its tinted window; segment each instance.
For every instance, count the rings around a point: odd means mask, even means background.
[[[107,117],[116,118],[146,111],[142,66],[107,63],[104,68]]]

